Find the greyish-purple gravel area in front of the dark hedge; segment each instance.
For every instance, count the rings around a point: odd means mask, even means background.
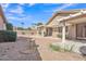
[[[29,44],[28,38],[19,38],[16,42],[0,42],[0,61],[40,61],[37,48],[29,49]]]

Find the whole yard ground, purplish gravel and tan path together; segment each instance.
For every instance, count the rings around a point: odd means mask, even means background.
[[[28,38],[19,38],[16,42],[0,42],[0,61],[84,61],[72,52],[51,51],[49,44],[61,41],[58,38],[33,37],[35,42],[29,48]],[[35,47],[36,46],[36,47]],[[38,47],[37,47],[38,46]]]

